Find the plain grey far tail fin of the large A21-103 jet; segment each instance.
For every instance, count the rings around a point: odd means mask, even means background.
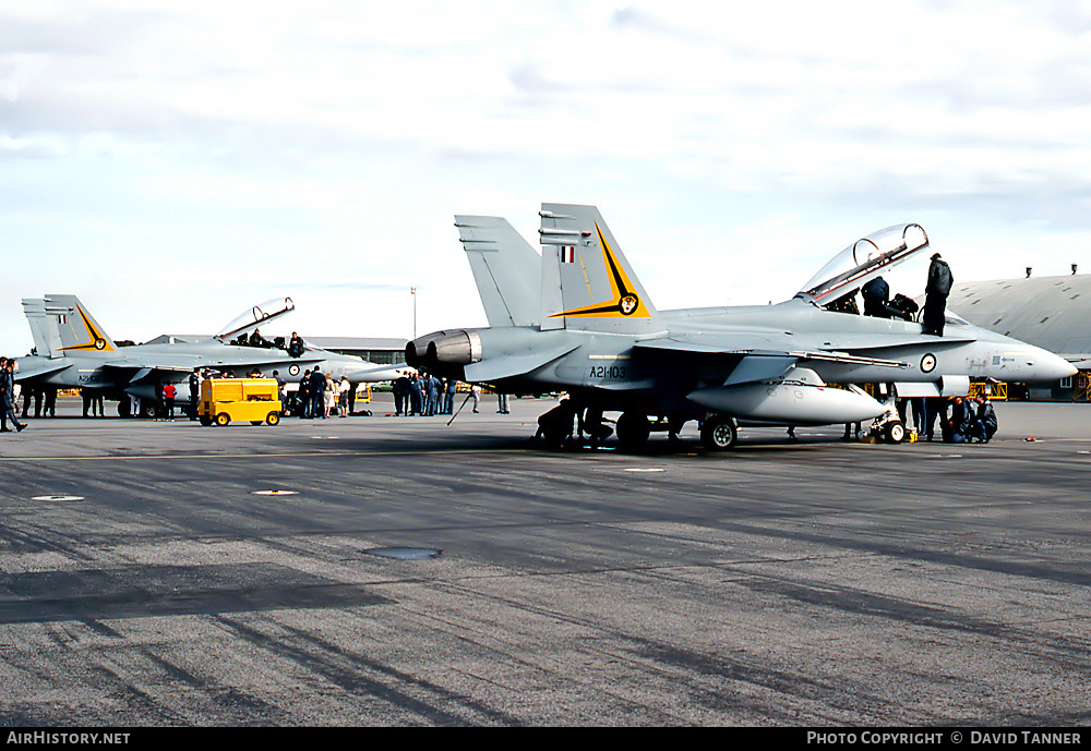
[[[490,326],[531,326],[541,314],[541,257],[506,219],[456,216]]]

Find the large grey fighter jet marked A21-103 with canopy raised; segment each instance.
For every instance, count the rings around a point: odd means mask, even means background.
[[[512,238],[506,221],[456,217],[491,327],[420,337],[407,344],[406,361],[500,391],[566,391],[591,435],[603,412],[621,412],[618,438],[627,448],[643,446],[652,429],[675,435],[690,420],[708,448],[721,450],[735,445],[740,424],[887,414],[889,404],[861,384],[939,396],[966,393],[970,378],[1048,381],[1075,373],[1045,350],[955,316],[935,337],[914,322],[828,310],[927,249],[915,223],[856,241],[786,302],[660,312],[596,207],[542,204],[540,216],[537,295],[527,284],[527,251],[537,253]],[[897,443],[904,425],[889,421],[886,431]]]

